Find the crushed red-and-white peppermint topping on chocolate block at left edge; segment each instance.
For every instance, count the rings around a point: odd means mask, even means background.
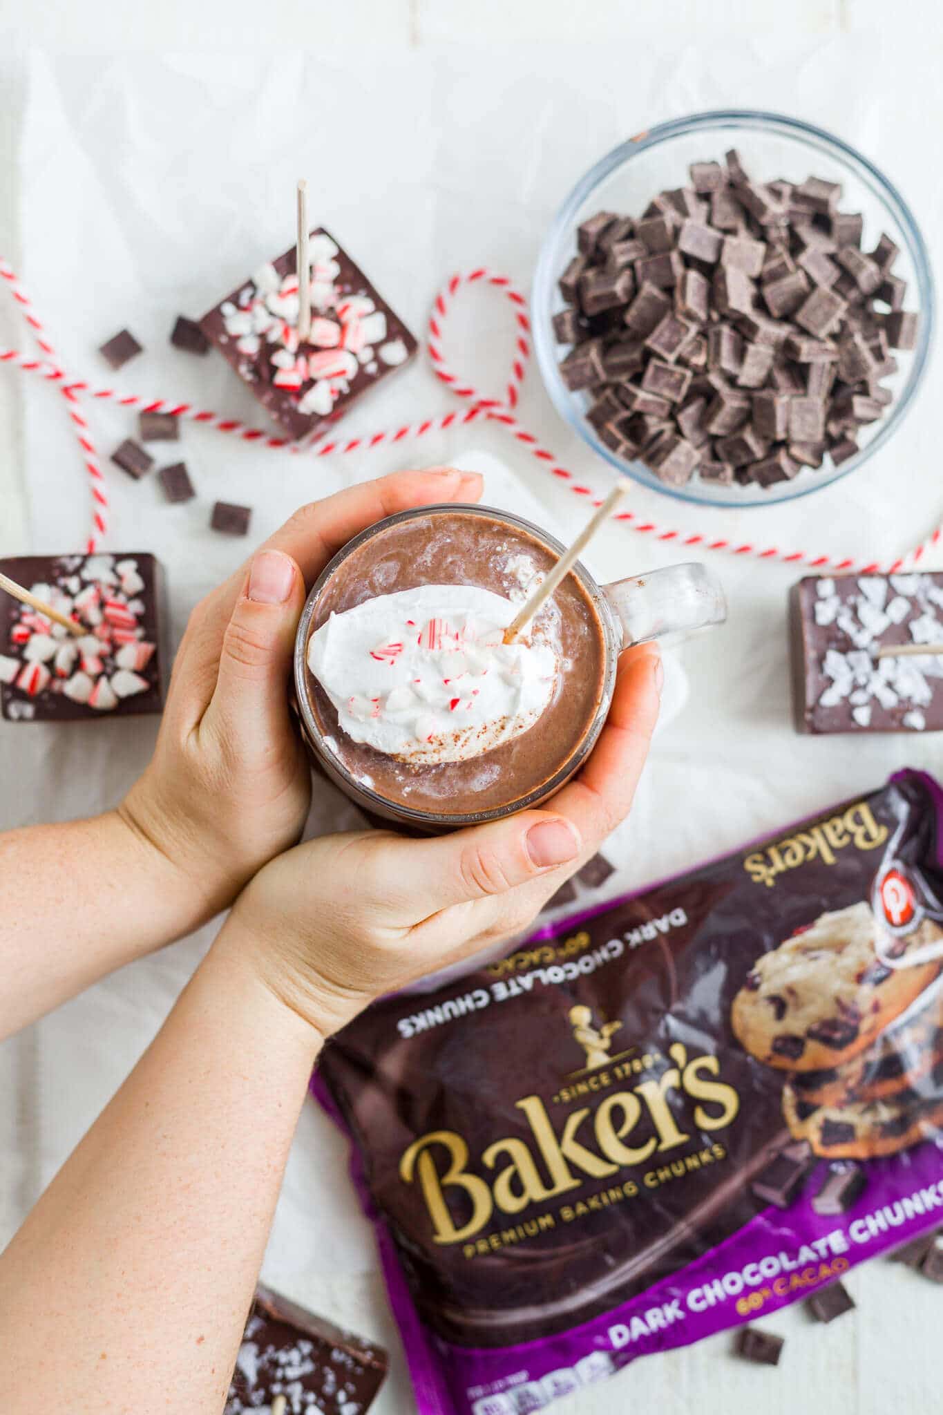
[[[33,700],[62,693],[96,712],[157,682],[157,644],[146,638],[146,591],[139,562],[116,555],[74,555],[49,562],[48,582],[30,591],[86,633],[69,634],[27,604],[0,645],[0,683],[25,696],[6,705],[8,717],[33,717]]]

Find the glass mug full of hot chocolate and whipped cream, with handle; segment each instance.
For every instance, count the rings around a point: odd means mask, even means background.
[[[727,617],[701,565],[599,586],[577,562],[505,642],[564,549],[522,516],[448,504],[335,555],[298,624],[294,691],[317,766],[366,812],[437,832],[539,805],[592,750],[619,652]]]

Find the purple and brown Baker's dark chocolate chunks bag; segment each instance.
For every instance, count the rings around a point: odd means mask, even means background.
[[[943,1221],[942,822],[901,773],[334,1039],[423,1415],[541,1409]]]

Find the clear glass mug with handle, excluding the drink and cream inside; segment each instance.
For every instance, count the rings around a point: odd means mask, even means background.
[[[358,807],[361,807],[366,815],[375,818],[379,816],[382,821],[390,821],[406,829],[423,833],[438,833],[441,831],[455,829],[464,825],[476,825],[482,821],[500,819],[502,816],[512,815],[516,811],[526,811],[530,807],[536,807],[543,801],[547,801],[556,791],[560,790],[560,787],[564,785],[566,781],[570,780],[575,771],[580,770],[582,761],[592,751],[592,747],[602,732],[615,689],[615,674],[619,652],[632,644],[645,644],[649,640],[663,638],[666,634],[689,633],[691,630],[704,628],[708,624],[721,624],[727,618],[724,590],[717,577],[703,565],[672,565],[663,570],[652,570],[646,574],[629,576],[623,580],[616,580],[612,584],[599,586],[587,567],[581,562],[577,562],[570,573],[575,576],[577,584],[581,590],[581,603],[582,600],[588,601],[594,616],[594,623],[598,624],[598,635],[601,641],[601,672],[598,702],[595,703],[591,715],[584,717],[581,732],[577,740],[573,741],[573,750],[566,754],[564,760],[554,763],[544,780],[540,780],[526,792],[515,795],[513,799],[508,799],[503,804],[478,811],[437,811],[431,807],[411,807],[406,801],[393,799],[376,790],[368,771],[358,774],[342,760],[338,750],[338,733],[342,732],[342,729],[334,723],[325,726],[321,719],[321,712],[324,712],[325,708],[325,695],[315,686],[314,675],[307,664],[307,655],[311,635],[329,617],[329,610],[325,610],[324,607],[328,587],[334,584],[335,574],[342,566],[345,566],[351,556],[356,555],[362,546],[373,542],[377,536],[386,536],[389,543],[394,546],[396,528],[406,528],[404,533],[407,536],[410,533],[416,536],[416,533],[420,532],[428,543],[433,543],[435,536],[435,519],[440,516],[458,516],[462,521],[465,518],[479,518],[481,524],[478,526],[474,521],[469,522],[468,528],[461,526],[462,532],[468,529],[472,535],[474,541],[469,543],[474,545],[478,545],[485,533],[493,535],[495,531],[499,533],[506,532],[513,542],[509,549],[520,552],[530,546],[541,555],[546,562],[543,565],[544,573],[549,565],[557,560],[566,550],[566,546],[563,546],[554,536],[540,529],[540,526],[533,525],[530,521],[525,521],[522,516],[512,515],[508,511],[496,511],[492,507],[455,505],[448,502],[441,505],[418,507],[413,511],[402,511],[397,515],[387,516],[385,521],[379,521],[376,525],[362,531],[334,556],[308,594],[301,614],[301,621],[298,624],[294,651],[294,708],[298,715],[305,744],[314,757],[315,767],[334,781],[334,784],[338,785],[341,791],[344,791]],[[428,521],[431,524],[430,526],[410,528],[409,524],[416,521]],[[444,535],[443,545],[448,546],[450,543],[451,541],[448,535]],[[376,550],[377,548],[372,546],[372,549]],[[382,549],[383,548],[380,546],[380,550]],[[402,566],[402,563],[414,563],[414,560],[397,563]],[[352,573],[352,567],[349,566],[348,573]],[[346,594],[348,603],[345,603],[345,607],[348,608],[355,603],[372,599],[375,594],[392,593],[392,590],[385,590],[382,587],[369,591],[366,590],[366,584],[358,580],[351,580],[349,583],[353,586],[353,593]],[[482,583],[481,577],[457,580],[455,576],[452,576],[451,580],[441,580],[430,576],[423,579],[421,576],[410,572],[406,574],[406,583],[403,583],[400,577],[400,582],[394,583],[393,589],[413,589],[417,584],[427,583],[469,583],[482,584],[485,589],[495,589],[493,584]],[[564,580],[564,586],[566,584],[567,580]],[[336,584],[334,587],[336,589]],[[561,589],[563,586],[560,590]],[[557,594],[560,594],[560,590],[557,590]],[[567,692],[566,681],[561,691]],[[318,709],[321,709],[321,712]],[[550,709],[547,708],[546,710],[549,712]],[[523,733],[522,736],[526,737],[530,733],[540,733],[540,719],[527,730],[527,733]],[[517,737],[516,740],[520,741],[522,739]],[[476,760],[484,761],[485,757],[488,757],[488,753],[482,754],[482,757]],[[430,768],[416,766],[409,770],[411,773],[423,773]],[[443,767],[437,766],[431,770],[441,771]],[[465,805],[468,804],[469,802],[465,801]]]

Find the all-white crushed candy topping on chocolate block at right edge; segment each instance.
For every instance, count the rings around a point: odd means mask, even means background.
[[[935,681],[943,679],[943,655],[913,654],[877,658],[885,644],[943,642],[943,580],[933,574],[821,577],[816,584],[816,624],[837,631],[826,649],[821,674],[827,686],[820,708],[848,706],[857,727],[869,727],[875,706],[899,715],[903,727],[923,732]],[[885,638],[884,635],[892,634]]]

